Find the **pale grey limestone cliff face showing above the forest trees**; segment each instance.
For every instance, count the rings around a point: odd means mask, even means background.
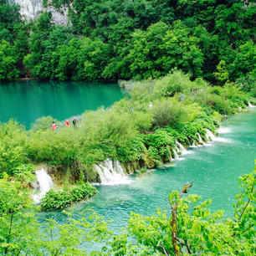
[[[27,18],[37,18],[38,12],[50,11],[53,15],[54,23],[65,25],[68,23],[68,10],[61,9],[58,13],[54,8],[44,8],[43,0],[9,0],[11,3],[17,3],[20,6],[20,14]]]

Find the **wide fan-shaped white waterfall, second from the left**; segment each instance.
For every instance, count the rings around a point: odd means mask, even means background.
[[[107,159],[106,161],[95,166],[95,169],[100,175],[100,181],[102,185],[117,185],[117,184],[129,184],[129,179],[120,166],[119,161],[112,161]]]

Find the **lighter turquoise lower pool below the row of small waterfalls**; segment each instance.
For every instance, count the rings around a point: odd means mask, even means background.
[[[139,176],[130,176],[130,183],[97,187],[98,193],[89,202],[72,207],[75,218],[80,212],[93,207],[105,220],[112,219],[110,229],[120,233],[131,212],[151,216],[160,207],[170,212],[168,195],[187,182],[193,182],[190,193],[202,200],[212,199],[211,211],[224,210],[224,216],[233,217],[235,195],[239,192],[238,177],[251,172],[256,157],[256,109],[233,115],[224,120],[216,141],[205,146],[192,147],[187,154]],[[179,186],[179,187],[178,187]],[[59,223],[64,221],[61,212],[54,212]],[[40,219],[49,218],[42,213]],[[90,247],[95,249],[94,245]]]

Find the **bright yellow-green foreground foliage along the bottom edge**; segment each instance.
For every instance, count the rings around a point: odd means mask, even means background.
[[[0,253],[2,255],[255,255],[256,167],[239,178],[233,217],[211,212],[211,200],[188,194],[190,185],[169,195],[172,212],[158,209],[145,217],[131,213],[128,228],[112,236],[107,223],[95,213],[79,220],[67,214],[64,224],[46,220],[44,228],[35,218],[28,193],[18,182],[0,180]],[[15,196],[14,196],[15,195]],[[43,228],[43,229],[42,229]],[[44,230],[44,232],[42,232]],[[40,231],[40,233],[39,233]],[[107,242],[99,252],[86,252],[85,241]],[[81,245],[83,244],[83,247]]]

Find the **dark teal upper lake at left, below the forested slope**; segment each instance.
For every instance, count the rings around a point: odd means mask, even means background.
[[[17,119],[27,128],[41,116],[64,120],[84,110],[108,107],[124,97],[118,84],[18,81],[0,83],[0,120]]]

